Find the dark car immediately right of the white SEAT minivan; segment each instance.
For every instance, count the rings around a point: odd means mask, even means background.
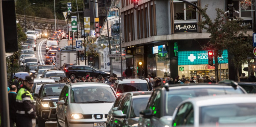
[[[121,98],[116,99],[113,108],[108,112],[107,127],[134,127],[137,125],[140,111],[146,108],[151,91],[123,94]]]

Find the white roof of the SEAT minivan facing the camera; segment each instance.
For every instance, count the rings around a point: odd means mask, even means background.
[[[99,82],[77,82],[71,83],[72,88],[77,87],[110,87],[110,85],[106,83],[99,83]]]

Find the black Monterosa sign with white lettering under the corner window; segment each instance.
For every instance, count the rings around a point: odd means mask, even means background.
[[[174,24],[174,33],[184,33],[184,32],[197,32],[196,22],[195,23]]]

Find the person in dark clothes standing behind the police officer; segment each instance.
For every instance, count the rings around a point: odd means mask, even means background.
[[[10,86],[10,92],[8,93],[9,100],[9,118],[10,118],[10,127],[14,126],[15,115],[16,115],[16,96],[17,96],[17,87],[15,85]]]

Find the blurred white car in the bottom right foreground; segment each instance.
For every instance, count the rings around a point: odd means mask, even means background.
[[[172,119],[172,127],[255,126],[256,96],[233,94],[187,99],[178,105]]]

